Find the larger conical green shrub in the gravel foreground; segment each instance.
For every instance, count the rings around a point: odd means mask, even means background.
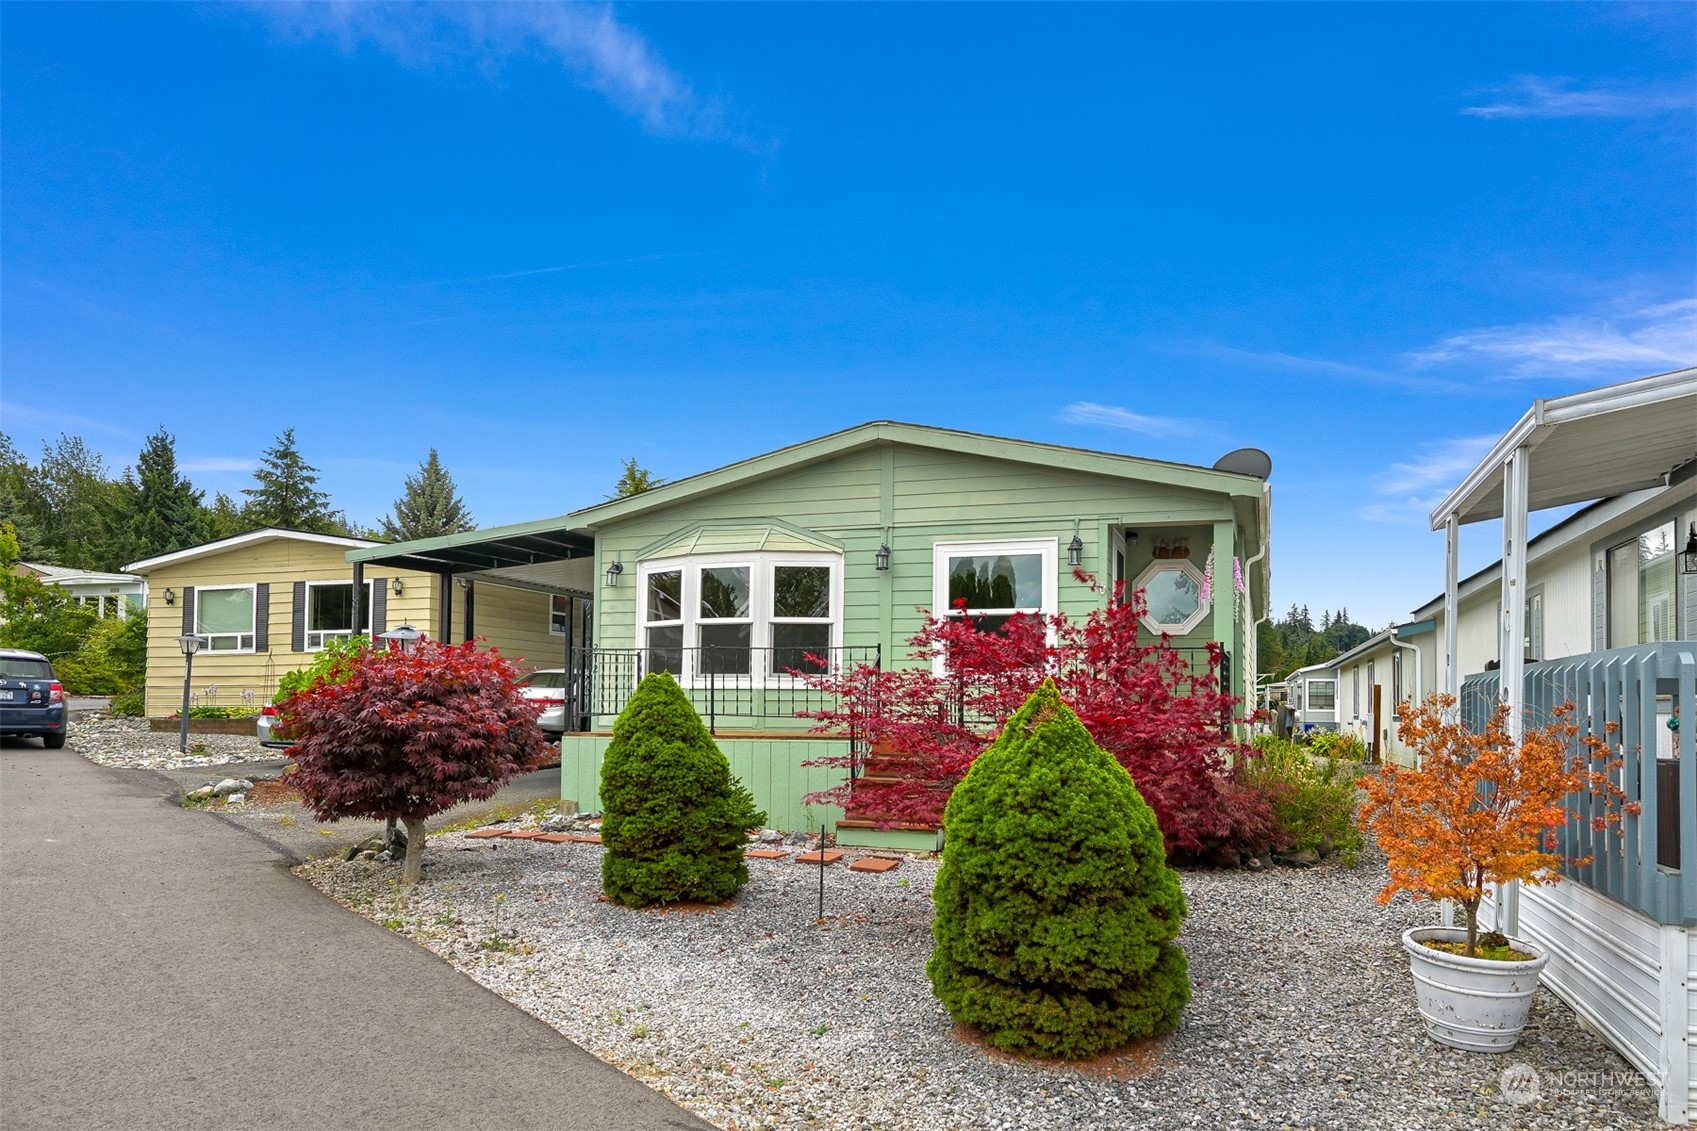
[[[1054,681],[972,762],[944,832],[927,973],[955,1021],[1032,1056],[1178,1026],[1185,893],[1154,812]]]

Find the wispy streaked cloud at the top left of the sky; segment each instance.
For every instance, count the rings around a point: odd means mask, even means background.
[[[258,12],[283,34],[333,39],[346,51],[370,46],[404,66],[472,65],[499,71],[511,59],[546,59],[664,138],[731,141],[750,151],[725,98],[687,78],[608,5],[585,3],[266,3]]]

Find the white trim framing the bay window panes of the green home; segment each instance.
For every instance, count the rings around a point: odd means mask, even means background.
[[[830,599],[832,615],[828,618],[774,618],[772,616],[772,571],[779,566],[813,566],[830,569]],[[708,620],[701,618],[701,571],[713,567],[745,567],[748,569],[748,616],[747,618],[726,618],[726,620]],[[648,577],[653,574],[665,574],[672,571],[682,571],[682,582],[679,586],[679,605],[680,620],[648,620]],[[755,656],[770,656],[767,649],[772,647],[770,627],[774,620],[782,623],[830,623],[832,649],[842,647],[843,637],[843,559],[842,554],[808,554],[808,552],[770,552],[759,550],[748,554],[689,554],[684,557],[657,557],[647,562],[636,564],[636,618],[635,618],[635,640],[636,647],[648,649],[648,628],[682,625],[684,628],[684,671],[679,683],[686,688],[706,686],[709,678],[704,672],[696,671],[696,649],[701,647],[701,625],[750,625],[748,645],[753,649]],[[774,674],[765,671],[765,664],[750,662],[747,676],[728,676],[720,674],[711,678],[720,686],[791,686],[796,683],[794,676]]]

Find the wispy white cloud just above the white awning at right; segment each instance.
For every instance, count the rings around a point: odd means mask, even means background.
[[[1678,369],[1697,363],[1697,299],[1614,316],[1568,316],[1468,329],[1409,353],[1407,360],[1415,369],[1485,363],[1500,377]]]

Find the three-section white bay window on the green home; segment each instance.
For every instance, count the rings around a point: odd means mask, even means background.
[[[842,623],[842,559],[738,554],[645,562],[647,671],[782,679],[826,671]]]

